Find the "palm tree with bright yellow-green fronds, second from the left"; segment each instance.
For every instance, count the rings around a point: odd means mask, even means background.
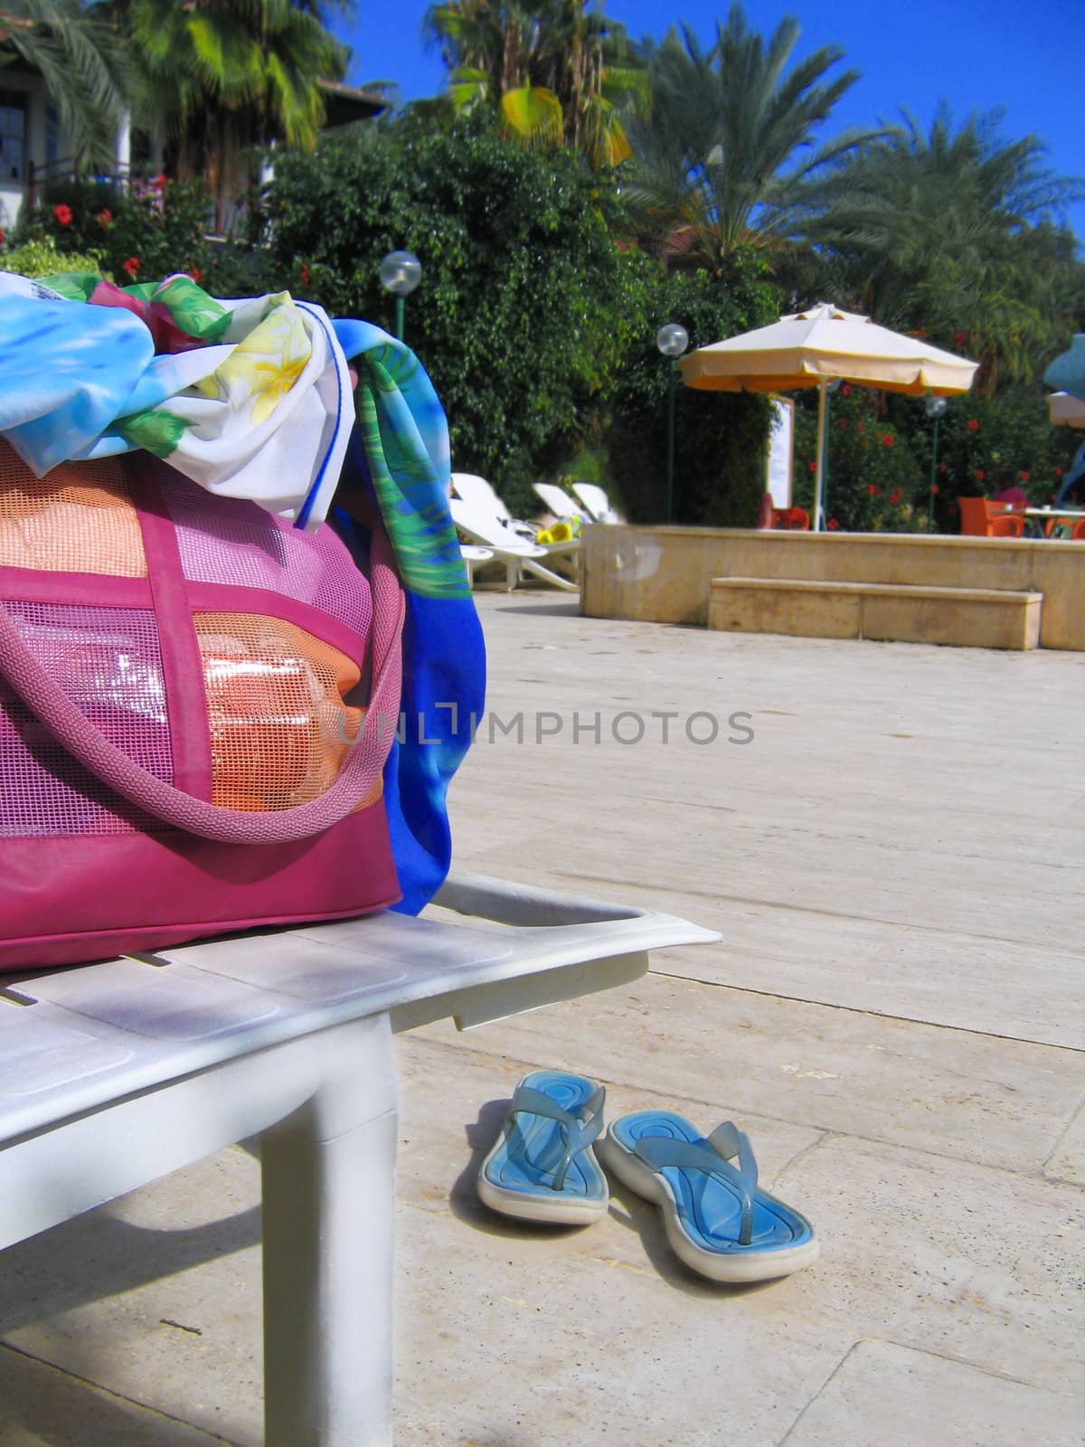
[[[165,132],[182,178],[205,177],[221,229],[246,149],[311,150],[324,120],[317,82],[349,52],[321,23],[327,6],[289,0],[120,0],[136,71],[136,117]]]

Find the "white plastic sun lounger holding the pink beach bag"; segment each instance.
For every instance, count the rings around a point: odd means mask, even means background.
[[[719,938],[480,875],[435,904],[0,980],[0,1247],[260,1136],[268,1447],[392,1441],[392,1035]]]

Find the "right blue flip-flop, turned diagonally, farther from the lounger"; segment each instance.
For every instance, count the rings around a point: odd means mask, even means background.
[[[670,1110],[641,1110],[610,1121],[599,1155],[663,1208],[667,1240],[702,1276],[771,1281],[817,1260],[813,1227],[758,1189],[749,1140],[729,1120],[706,1137]]]

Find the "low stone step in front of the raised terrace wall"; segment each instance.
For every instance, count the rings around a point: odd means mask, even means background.
[[[1043,593],[799,577],[713,577],[709,628],[797,638],[877,638],[1036,648]]]

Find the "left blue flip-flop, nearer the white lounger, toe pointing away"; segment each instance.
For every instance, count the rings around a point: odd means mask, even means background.
[[[605,1094],[582,1075],[525,1075],[479,1168],[486,1205],[556,1226],[583,1226],[603,1215],[610,1192],[592,1142],[603,1129]]]

